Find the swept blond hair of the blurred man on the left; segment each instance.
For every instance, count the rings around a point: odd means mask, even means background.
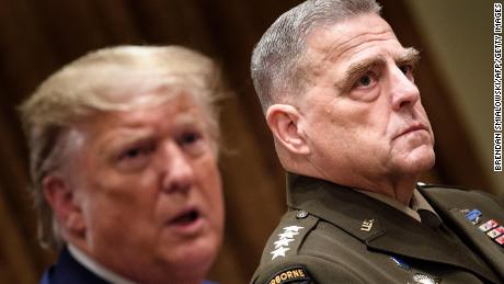
[[[217,155],[219,127],[215,102],[225,90],[217,65],[181,46],[103,48],[46,79],[20,106],[28,140],[31,190],[38,213],[41,243],[56,249],[64,245],[42,182],[64,162],[75,123],[96,112],[158,105],[184,93],[201,105]]]

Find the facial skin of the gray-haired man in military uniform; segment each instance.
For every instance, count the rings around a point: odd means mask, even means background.
[[[435,160],[412,75],[416,52],[402,47],[376,14],[318,29],[307,46],[312,80],[289,115],[309,166],[296,161],[291,170],[408,203]]]

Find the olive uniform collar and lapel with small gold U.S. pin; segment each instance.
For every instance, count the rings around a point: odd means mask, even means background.
[[[485,277],[488,270],[467,255],[472,253],[467,248],[458,250],[444,241],[439,231],[383,202],[347,186],[294,173],[287,173],[287,189],[289,207],[333,224],[370,250],[456,265]]]

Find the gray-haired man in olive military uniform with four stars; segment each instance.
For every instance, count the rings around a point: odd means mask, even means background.
[[[416,183],[435,160],[419,53],[379,11],[374,0],[309,0],[254,49],[289,209],[252,283],[504,282],[502,205]]]

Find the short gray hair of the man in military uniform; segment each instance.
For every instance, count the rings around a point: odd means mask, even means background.
[[[311,32],[380,10],[375,0],[308,0],[282,14],[252,54],[251,75],[263,112],[275,102],[293,99],[308,83],[302,55]]]

